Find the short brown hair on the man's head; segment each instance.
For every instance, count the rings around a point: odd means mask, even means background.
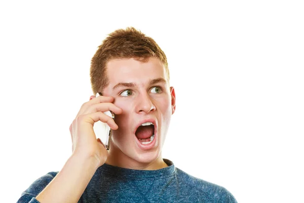
[[[156,57],[164,63],[169,82],[167,57],[152,38],[145,36],[134,27],[117,29],[110,33],[91,60],[90,77],[94,95],[102,92],[103,88],[108,85],[106,63],[109,60],[134,58],[145,62],[149,57]]]

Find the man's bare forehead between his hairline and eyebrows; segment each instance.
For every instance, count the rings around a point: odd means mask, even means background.
[[[109,88],[118,83],[144,85],[149,80],[157,78],[167,80],[164,64],[158,58],[153,57],[150,57],[146,62],[133,58],[111,59],[107,62],[106,69]]]

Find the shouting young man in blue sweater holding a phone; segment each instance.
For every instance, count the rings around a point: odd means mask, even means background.
[[[153,39],[133,27],[110,33],[92,58],[90,75],[94,95],[102,96],[91,96],[73,120],[72,155],[18,202],[236,202],[225,188],[163,159],[175,91],[166,55]],[[95,137],[99,120],[113,129],[109,151]]]

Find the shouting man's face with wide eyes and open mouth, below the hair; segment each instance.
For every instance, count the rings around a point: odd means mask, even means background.
[[[113,104],[123,110],[115,116],[119,128],[112,133],[112,149],[137,162],[156,160],[175,111],[175,92],[169,87],[164,64],[157,58],[147,62],[112,59],[106,69],[109,85],[103,95],[113,96]]]

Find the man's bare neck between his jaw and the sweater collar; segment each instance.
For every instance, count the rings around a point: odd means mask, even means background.
[[[162,154],[160,154],[160,156],[152,162],[141,163],[124,154],[115,145],[111,145],[105,163],[134,170],[158,170],[168,166],[167,163],[165,163],[163,160]]]

